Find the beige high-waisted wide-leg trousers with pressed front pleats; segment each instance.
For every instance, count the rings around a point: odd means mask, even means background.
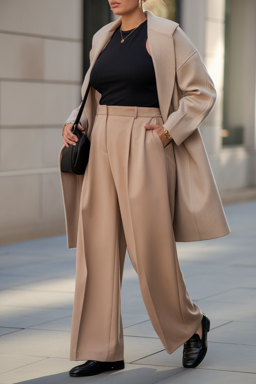
[[[121,282],[126,247],[152,325],[172,353],[197,330],[177,259],[173,144],[154,130],[160,109],[99,106],[78,227],[71,360],[124,359]]]

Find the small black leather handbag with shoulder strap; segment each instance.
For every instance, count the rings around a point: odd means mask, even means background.
[[[89,153],[90,153],[90,141],[86,134],[82,133],[78,129],[78,124],[82,116],[86,99],[89,94],[91,83],[88,84],[86,93],[84,95],[83,102],[79,109],[76,121],[72,127],[72,133],[75,134],[78,138],[76,145],[70,145],[69,147],[64,147],[61,158],[61,170],[62,172],[74,173],[76,175],[83,175],[88,164]]]

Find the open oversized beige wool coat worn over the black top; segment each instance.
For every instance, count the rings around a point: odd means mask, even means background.
[[[220,195],[198,130],[216,100],[216,91],[195,46],[171,20],[147,15],[149,48],[155,68],[162,119],[173,137],[177,183],[173,231],[178,242],[208,240],[230,233]],[[89,84],[92,66],[121,25],[121,17],[105,25],[93,37],[91,66],[82,86]],[[84,108],[91,136],[101,95],[91,87]],[[74,114],[68,120],[72,120]],[[62,156],[60,154],[60,161]],[[68,248],[75,248],[83,175],[61,172]]]

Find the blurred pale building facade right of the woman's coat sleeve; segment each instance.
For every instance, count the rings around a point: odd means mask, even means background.
[[[200,126],[218,188],[255,186],[256,2],[182,0],[181,15],[218,92]]]

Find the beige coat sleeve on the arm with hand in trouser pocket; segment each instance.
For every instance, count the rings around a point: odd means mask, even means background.
[[[216,90],[198,51],[180,28],[173,34],[173,41],[176,82],[183,97],[164,125],[180,145],[210,113],[216,101]]]

